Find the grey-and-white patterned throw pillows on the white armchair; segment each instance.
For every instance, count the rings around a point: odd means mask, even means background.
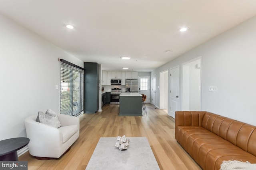
[[[59,128],[61,126],[57,114],[51,109],[48,109],[46,113],[39,111],[36,121],[54,128]]]

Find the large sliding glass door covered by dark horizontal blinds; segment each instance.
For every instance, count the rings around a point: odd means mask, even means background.
[[[84,110],[84,69],[60,61],[60,113],[75,116]]]

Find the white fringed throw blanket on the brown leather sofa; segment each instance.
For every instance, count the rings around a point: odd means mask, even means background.
[[[220,170],[255,170],[256,164],[250,162],[240,162],[238,160],[223,161]]]

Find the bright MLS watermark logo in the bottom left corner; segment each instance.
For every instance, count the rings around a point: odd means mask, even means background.
[[[28,170],[28,161],[0,161],[0,170]]]

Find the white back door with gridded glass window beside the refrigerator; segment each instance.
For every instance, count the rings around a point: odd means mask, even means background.
[[[139,76],[139,94],[147,96],[145,103],[150,102],[150,76]]]

